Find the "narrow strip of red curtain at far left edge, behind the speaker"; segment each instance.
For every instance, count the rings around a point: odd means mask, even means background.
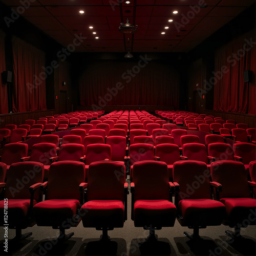
[[[0,30],[0,74],[6,70],[5,65],[5,33]],[[0,78],[0,114],[8,113],[7,85]]]

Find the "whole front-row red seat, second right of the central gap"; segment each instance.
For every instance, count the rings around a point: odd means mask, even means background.
[[[193,228],[193,234],[184,232],[193,240],[200,238],[200,228],[219,226],[225,217],[225,205],[211,199],[209,173],[200,161],[178,161],[173,167],[177,220],[181,226]],[[199,182],[197,177],[203,179]]]

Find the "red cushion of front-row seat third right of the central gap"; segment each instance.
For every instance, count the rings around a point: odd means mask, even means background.
[[[227,216],[230,222],[240,223],[243,220],[249,219],[251,213],[255,215],[256,199],[252,198],[222,198],[220,200],[226,206]],[[253,216],[254,216],[253,215]],[[250,225],[255,224],[250,221]]]

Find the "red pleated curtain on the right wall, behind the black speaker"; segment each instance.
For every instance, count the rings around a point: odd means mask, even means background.
[[[251,31],[216,50],[214,110],[256,114],[255,39]],[[246,70],[253,72],[249,86],[244,82]]]

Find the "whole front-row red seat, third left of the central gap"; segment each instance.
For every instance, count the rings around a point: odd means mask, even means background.
[[[13,240],[18,242],[18,240],[32,236],[32,232],[22,234],[22,229],[35,225],[32,208],[41,201],[41,194],[38,188],[42,184],[44,177],[44,165],[37,162],[13,163],[6,176],[6,183],[0,183],[0,187],[5,189],[5,199],[0,201],[0,211],[3,217],[0,225],[6,227],[4,210],[6,210],[5,206],[7,204],[8,218],[6,220],[8,229],[15,229],[16,235]],[[26,182],[22,183],[25,177]],[[17,180],[22,183],[19,189],[17,189]]]

